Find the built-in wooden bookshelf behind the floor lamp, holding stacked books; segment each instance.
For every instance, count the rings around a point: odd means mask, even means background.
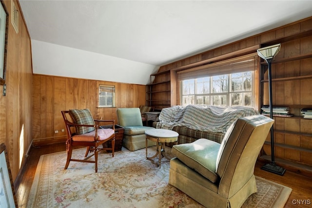
[[[312,35],[298,32],[289,37],[278,39],[281,50],[272,61],[274,156],[275,162],[286,170],[311,177]],[[276,40],[268,41],[261,47],[274,43]],[[268,64],[261,60],[261,114],[270,116],[267,69]],[[271,159],[270,137],[269,134],[260,159]]]

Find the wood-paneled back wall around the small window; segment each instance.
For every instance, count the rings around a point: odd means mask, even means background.
[[[98,108],[99,84],[115,86],[115,108]],[[145,105],[145,85],[108,81],[67,78],[58,76],[33,76],[33,144],[49,144],[65,140],[62,110],[90,109],[94,118],[114,119],[117,108],[134,108]],[[55,131],[59,131],[55,133]]]

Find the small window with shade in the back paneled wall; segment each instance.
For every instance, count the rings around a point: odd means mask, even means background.
[[[115,86],[99,85],[98,87],[98,107],[115,107]]]

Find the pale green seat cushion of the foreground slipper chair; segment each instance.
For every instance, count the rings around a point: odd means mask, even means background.
[[[215,183],[216,158],[220,144],[208,139],[198,139],[193,143],[174,145],[172,153],[188,167]]]

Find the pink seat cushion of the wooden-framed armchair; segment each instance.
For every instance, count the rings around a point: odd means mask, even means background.
[[[111,135],[113,135],[115,132],[113,129],[98,129],[98,140],[105,140],[109,138]],[[76,142],[94,142],[96,135],[96,131],[84,133],[84,134],[78,134],[73,136],[73,141]]]

